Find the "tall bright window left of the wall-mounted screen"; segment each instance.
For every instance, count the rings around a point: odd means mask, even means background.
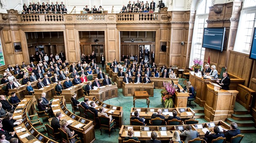
[[[212,0],[201,0],[196,10],[196,19],[194,25],[193,39],[191,45],[189,67],[193,65],[193,59],[204,59],[205,48],[202,48],[204,28],[207,27],[209,7]]]

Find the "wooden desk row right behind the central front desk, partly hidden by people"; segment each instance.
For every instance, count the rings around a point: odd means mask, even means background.
[[[131,77],[131,79],[134,81],[134,76]],[[174,84],[178,84],[179,79],[178,78],[155,78],[155,77],[149,77],[151,82],[154,82],[154,88],[158,89],[165,89],[164,87],[164,81],[170,81],[172,80]],[[142,78],[143,79],[143,78]],[[118,88],[122,88],[123,85],[123,77],[116,77],[116,83],[118,84]]]

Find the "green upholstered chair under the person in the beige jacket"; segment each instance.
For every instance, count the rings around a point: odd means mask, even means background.
[[[99,130],[100,130],[100,135],[102,135],[102,130],[101,129],[104,129],[104,130],[108,130],[109,132],[109,137],[110,137],[110,130],[112,128],[115,129],[115,119],[113,119],[111,122],[110,122],[110,118],[102,115],[102,116],[99,116]],[[116,131],[116,130],[115,130]]]

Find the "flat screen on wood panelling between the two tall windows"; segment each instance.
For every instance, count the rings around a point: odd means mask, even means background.
[[[223,50],[226,28],[204,28],[203,48]]]

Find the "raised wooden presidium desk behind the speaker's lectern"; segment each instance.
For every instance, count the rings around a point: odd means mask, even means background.
[[[228,76],[230,77],[230,89],[231,90],[236,90],[238,84],[243,84],[245,80],[243,80],[242,78],[239,78],[235,75],[232,74],[228,74]],[[200,73],[196,73],[194,74],[193,72],[191,72],[191,74],[189,74],[189,81],[191,82],[191,85],[194,88],[197,88],[196,91],[196,100],[195,102],[197,104],[199,104],[199,106],[204,107],[204,104],[206,103],[206,90],[207,90],[207,84],[209,84],[209,82],[212,83],[216,83],[216,80],[212,80],[210,78],[204,79]]]

